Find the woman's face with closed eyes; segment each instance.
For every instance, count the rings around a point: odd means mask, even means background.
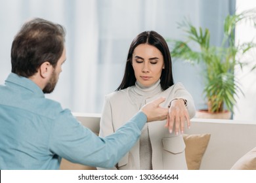
[[[155,46],[139,44],[133,51],[133,70],[142,86],[155,84],[164,69],[163,55]]]

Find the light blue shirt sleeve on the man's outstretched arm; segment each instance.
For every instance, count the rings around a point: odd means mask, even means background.
[[[49,150],[73,163],[114,167],[138,141],[146,120],[146,115],[138,112],[116,133],[103,138],[81,125],[70,110],[64,110],[53,124]]]

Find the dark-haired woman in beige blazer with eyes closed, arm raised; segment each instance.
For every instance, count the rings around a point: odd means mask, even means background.
[[[146,124],[140,140],[113,169],[187,169],[182,133],[195,114],[194,101],[181,83],[173,83],[165,39],[155,31],[144,31],[131,42],[120,86],[106,95],[99,135],[114,133],[160,96],[166,98],[161,106],[169,107],[167,120]],[[167,124],[169,129],[164,127]]]

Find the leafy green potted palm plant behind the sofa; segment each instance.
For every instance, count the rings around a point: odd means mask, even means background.
[[[251,20],[255,25],[255,17],[255,10],[226,16],[221,46],[210,44],[209,29],[202,29],[202,27],[196,29],[188,20],[179,24],[179,27],[186,32],[186,41],[168,40],[172,43],[172,58],[179,58],[192,64],[202,63],[205,67],[203,93],[207,98],[207,112],[211,114],[223,113],[224,106],[229,112],[233,112],[233,106],[236,103],[235,95],[239,90],[242,91],[234,75],[234,67],[236,65],[244,67],[248,64],[240,60],[251,48],[256,47],[253,41],[235,43],[234,30],[242,20]],[[191,43],[194,43],[193,47],[190,46]],[[195,44],[199,46],[197,50],[194,48]]]

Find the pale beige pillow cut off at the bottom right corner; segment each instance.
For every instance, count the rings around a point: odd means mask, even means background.
[[[256,170],[256,147],[242,156],[231,167],[232,170]]]

